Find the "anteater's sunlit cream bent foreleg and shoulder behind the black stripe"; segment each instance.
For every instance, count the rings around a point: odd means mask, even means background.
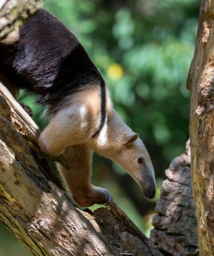
[[[40,148],[50,156],[59,156],[66,147],[86,143],[99,125],[100,92],[79,92],[52,118],[39,138]]]

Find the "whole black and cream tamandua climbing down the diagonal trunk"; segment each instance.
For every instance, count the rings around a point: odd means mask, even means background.
[[[88,207],[112,200],[90,182],[93,151],[120,164],[146,197],[155,196],[144,144],[119,118],[102,75],[77,38],[47,10],[0,42],[0,79],[14,97],[24,88],[47,105],[43,115],[50,122],[38,143],[50,156],[66,157],[70,169],[57,167],[75,202]]]

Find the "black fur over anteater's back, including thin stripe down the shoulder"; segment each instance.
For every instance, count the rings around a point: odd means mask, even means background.
[[[0,45],[0,68],[19,88],[38,93],[52,115],[73,93],[100,84],[100,131],[105,122],[105,82],[77,38],[47,10],[41,9],[20,28],[19,41]],[[96,136],[98,131],[93,135]]]

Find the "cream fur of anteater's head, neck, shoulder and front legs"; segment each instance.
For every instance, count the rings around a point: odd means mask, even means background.
[[[92,138],[100,124],[99,86],[75,94],[47,125],[39,138],[40,147],[52,156],[63,154],[70,169],[57,164],[73,199],[88,207],[111,200],[106,189],[91,184],[93,151],[120,164],[140,184],[145,195],[154,193],[155,175],[142,141],[117,115],[107,91],[107,118],[102,131]],[[143,164],[138,163],[141,157]]]

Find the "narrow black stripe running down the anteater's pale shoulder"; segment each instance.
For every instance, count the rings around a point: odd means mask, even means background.
[[[95,138],[100,131],[102,130],[103,125],[105,124],[105,118],[106,118],[106,92],[105,92],[105,82],[103,78],[101,78],[101,83],[100,83],[100,92],[101,92],[101,118],[100,118],[100,126],[98,130],[93,134],[92,138]]]

